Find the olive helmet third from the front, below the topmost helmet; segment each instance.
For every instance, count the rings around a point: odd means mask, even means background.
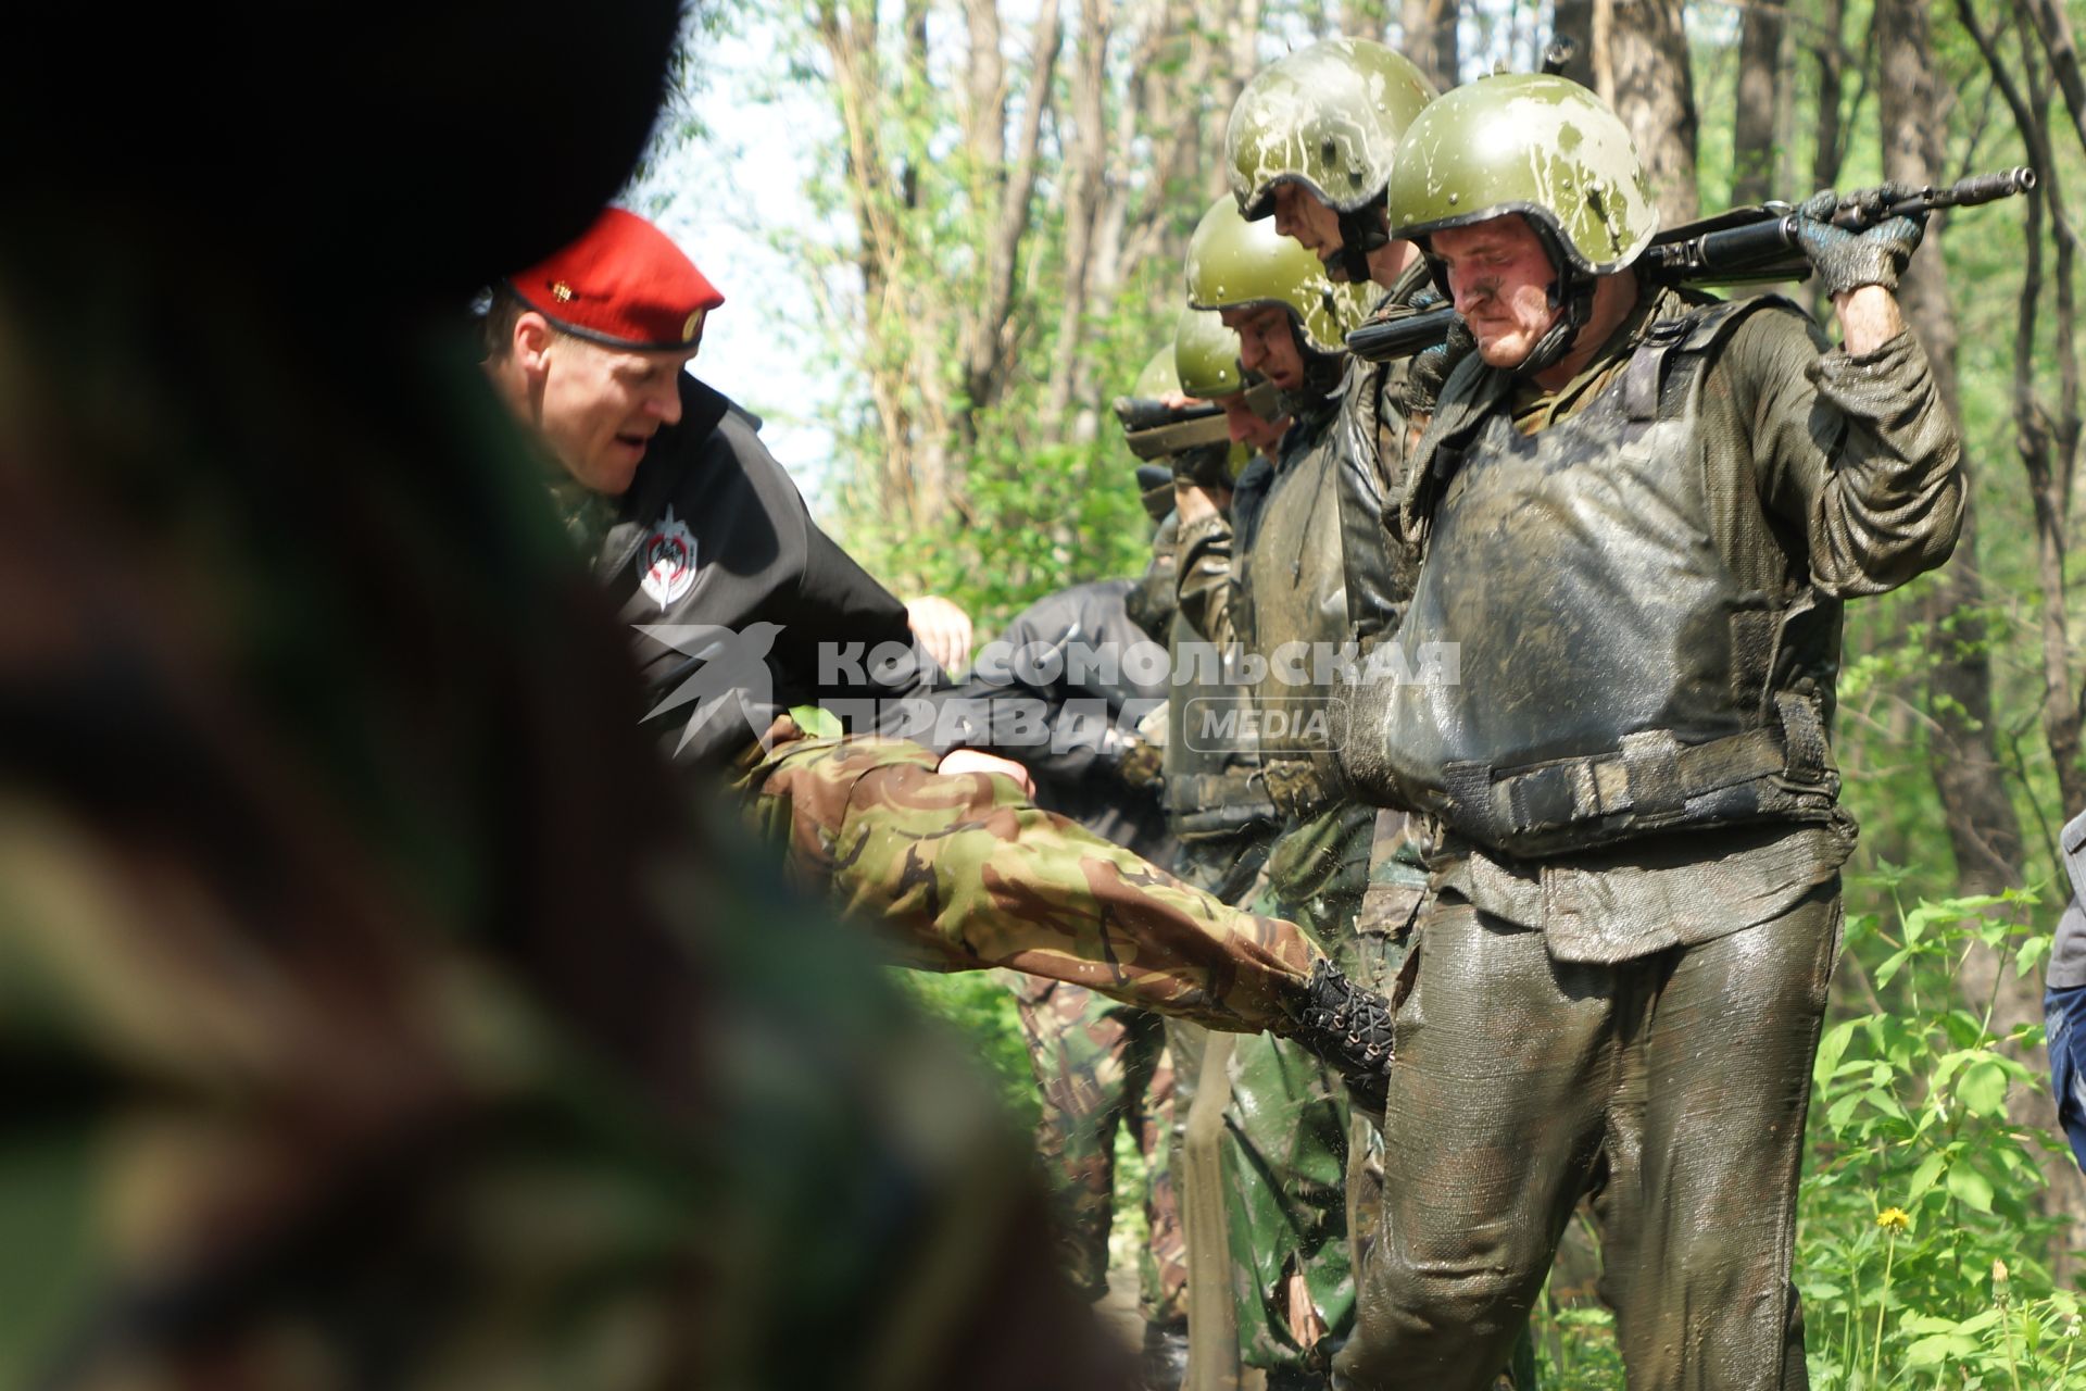
[[[1348,350],[1348,332],[1368,317],[1373,290],[1335,286],[1318,257],[1275,229],[1250,223],[1231,198],[1218,198],[1187,244],[1187,302],[1195,309],[1285,304],[1304,348]]]

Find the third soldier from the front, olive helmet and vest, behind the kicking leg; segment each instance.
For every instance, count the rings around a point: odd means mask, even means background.
[[[1350,636],[1339,546],[1327,544],[1318,519],[1333,515],[1341,340],[1362,300],[1333,290],[1316,259],[1272,225],[1243,221],[1231,198],[1195,227],[1187,290],[1191,307],[1216,311],[1237,332],[1241,367],[1275,384],[1291,423],[1275,467],[1241,480],[1229,519],[1208,490],[1179,488],[1181,609],[1233,653],[1252,686],[1229,713],[1258,736],[1260,782],[1277,813],[1260,907],[1304,924],[1358,974],[1368,963],[1356,951],[1354,913],[1375,809],[1341,803],[1331,778],[1318,776],[1333,767],[1335,711],[1314,684],[1329,672],[1323,659],[1312,672],[1312,649],[1329,657]],[[1323,1385],[1327,1351],[1345,1337],[1354,1308],[1345,1097],[1310,1055],[1272,1039],[1241,1041],[1233,1078],[1239,1176],[1229,1224],[1241,1356],[1266,1368],[1270,1385]]]

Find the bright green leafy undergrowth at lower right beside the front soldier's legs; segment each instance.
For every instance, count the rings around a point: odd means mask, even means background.
[[[1817,1391],[2065,1387],[2073,1366],[2086,1378],[2080,1297],[2053,1287],[2040,1253],[2055,1226],[2034,1203],[2036,1153],[2067,1151],[2007,1118],[2019,1089],[2048,1087],[2013,1057],[2042,1030],[2000,1039],[1990,1001],[1961,991],[1971,945],[2007,972],[2048,953],[2017,907],[1942,899],[1890,928],[1848,920],[1842,972],[1865,1003],[1834,1009],[1819,1041],[1796,1233]],[[1537,1347],[1558,1387],[1623,1385],[1612,1320],[1590,1295],[1546,1301]]]

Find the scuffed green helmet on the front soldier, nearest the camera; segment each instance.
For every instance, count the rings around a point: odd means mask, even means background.
[[[1658,204],[1623,121],[1577,81],[1546,73],[1456,88],[1398,146],[1393,238],[1502,213],[1525,215],[1583,275],[1621,271],[1658,231]]]

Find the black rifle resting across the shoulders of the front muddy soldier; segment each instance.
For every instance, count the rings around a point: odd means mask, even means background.
[[[1865,188],[1840,200],[1832,223],[1863,231],[1892,217],[2013,198],[2034,186],[2036,171],[2021,167],[1980,173],[1946,188],[1921,188],[1896,200],[1888,190]],[[1638,275],[1663,286],[1758,286],[1804,279],[1811,275],[1811,261],[1796,240],[1796,209],[1788,202],[1761,202],[1660,231],[1638,261]],[[1348,334],[1348,350],[1371,363],[1412,357],[1444,342],[1454,323],[1454,309],[1364,323]]]

